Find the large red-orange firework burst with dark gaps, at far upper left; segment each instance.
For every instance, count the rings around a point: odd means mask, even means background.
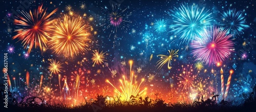
[[[35,48],[39,47],[40,50],[47,47],[48,37],[50,37],[50,32],[53,29],[52,23],[54,19],[50,18],[57,9],[53,10],[51,13],[46,13],[47,8],[43,9],[42,5],[38,6],[34,13],[29,11],[23,12],[22,15],[18,15],[18,19],[14,19],[14,24],[17,25],[18,32],[17,35],[13,36],[12,39],[18,38],[22,41],[24,49],[28,48],[28,53],[31,52],[33,46]]]

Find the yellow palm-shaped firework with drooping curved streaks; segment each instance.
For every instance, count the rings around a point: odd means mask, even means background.
[[[157,61],[157,66],[158,68],[157,69],[161,69],[162,66],[168,62],[168,69],[171,69],[172,67],[170,66],[170,61],[173,60],[173,57],[178,57],[178,51],[179,50],[168,50],[169,51],[169,56],[166,56],[166,55],[157,55],[157,56],[161,56],[161,59],[159,61]]]

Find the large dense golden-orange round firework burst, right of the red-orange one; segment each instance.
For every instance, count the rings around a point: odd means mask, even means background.
[[[73,57],[81,52],[88,50],[89,33],[87,33],[86,25],[81,21],[81,17],[73,17],[65,15],[63,20],[58,18],[55,23],[55,33],[49,41],[50,49],[54,53],[65,57]]]

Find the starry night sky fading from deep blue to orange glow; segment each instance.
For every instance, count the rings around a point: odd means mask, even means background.
[[[112,4],[112,3],[117,4]],[[120,4],[119,4],[119,3]],[[27,3],[26,3],[27,4]],[[124,75],[130,76],[129,60],[133,60],[132,71],[137,76],[138,83],[142,78],[145,81],[141,84],[141,89],[147,88],[146,95],[154,97],[156,93],[160,94],[166,102],[177,101],[169,99],[172,91],[177,91],[189,96],[191,90],[182,89],[183,84],[180,83],[179,76],[184,71],[193,69],[193,74],[196,85],[197,81],[206,80],[205,87],[203,88],[204,95],[209,95],[212,92],[221,94],[221,68],[224,71],[225,84],[229,77],[229,71],[233,70],[234,73],[231,78],[230,89],[228,96],[230,99],[239,96],[245,91],[241,91],[245,87],[245,82],[249,84],[246,86],[248,89],[256,82],[256,61],[255,61],[255,46],[256,46],[256,15],[255,15],[255,1],[33,1],[25,12],[37,9],[42,4],[42,8],[47,8],[47,13],[52,12],[57,8],[57,11],[51,15],[51,18],[57,19],[63,17],[65,14],[69,16],[80,16],[81,21],[87,24],[86,30],[90,35],[90,41],[87,41],[88,47],[86,51],[79,52],[78,55],[66,57],[65,54],[54,53],[51,46],[46,48],[44,52],[40,51],[39,47],[33,46],[29,57],[26,59],[24,54],[28,52],[28,47],[23,46],[24,43],[18,38],[13,39],[18,34],[15,30],[18,26],[13,23],[13,19],[19,19],[13,11],[20,12],[17,8],[23,6],[19,1],[3,1],[1,2],[1,23],[0,23],[0,56],[1,62],[4,60],[4,53],[8,53],[8,75],[11,79],[12,91],[17,93],[17,96],[29,95],[26,91],[26,73],[30,74],[31,85],[38,85],[40,82],[41,74],[44,76],[44,86],[51,84],[53,96],[60,96],[58,75],[52,74],[49,71],[50,60],[56,60],[62,63],[62,68],[58,74],[61,75],[60,87],[62,88],[64,80],[67,77],[67,83],[72,93],[73,84],[72,80],[74,71],[81,71],[84,73],[80,87],[79,94],[88,98],[94,98],[97,94],[114,96],[114,87],[106,82],[108,79],[113,85],[119,87],[121,84],[119,79]],[[81,4],[85,4],[85,8],[81,8]],[[67,10],[68,6],[72,9]],[[180,12],[178,10],[184,5],[186,8],[191,9],[191,6],[197,6],[199,11],[204,7],[204,13],[209,14],[210,18],[208,26],[218,26],[226,29],[221,25],[220,21],[224,18],[223,13],[228,10],[236,9],[241,11],[241,16],[244,18],[244,25],[247,28],[238,29],[239,32],[233,33],[229,40],[232,41],[233,49],[224,58],[220,65],[217,62],[203,63],[204,68],[198,72],[195,64],[200,61],[197,56],[194,56],[191,41],[184,41],[181,38],[182,32],[177,33],[174,29],[179,29],[184,26],[177,27],[178,19],[172,14]],[[119,27],[111,25],[109,13],[113,8],[123,11],[121,13],[122,22]],[[73,15],[70,14],[73,12]],[[20,15],[20,14],[19,14]],[[176,15],[177,17],[181,15]],[[126,21],[124,21],[126,20]],[[164,20],[165,30],[157,31],[157,21]],[[224,20],[223,20],[224,21]],[[226,23],[229,24],[229,23]],[[238,25],[239,26],[239,25]],[[19,26],[20,27],[20,26]],[[206,26],[207,27],[207,26]],[[53,28],[54,29],[54,28]],[[50,36],[54,35],[55,29],[51,32]],[[191,34],[201,35],[195,32]],[[226,35],[232,34],[227,32]],[[50,40],[50,38],[48,38]],[[13,46],[14,52],[10,53],[8,47]],[[9,50],[9,51],[8,51]],[[101,64],[94,65],[92,61],[93,50],[105,52],[105,61]],[[169,55],[168,50],[179,50],[178,57],[173,57],[170,62],[171,69],[168,69],[167,63],[162,68],[158,69],[157,62],[161,56]],[[241,55],[246,52],[246,58]],[[151,58],[151,56],[153,56]],[[106,65],[108,64],[108,65]],[[0,67],[4,68],[4,64]],[[93,66],[94,65],[94,66]],[[188,67],[187,67],[188,65]],[[141,69],[141,71],[139,70]],[[114,75],[112,72],[116,70]],[[153,76],[154,75],[154,76]],[[150,80],[149,77],[153,76]],[[15,80],[14,80],[15,78]],[[4,76],[0,78],[4,82]],[[49,82],[51,80],[51,82]],[[16,81],[16,87],[14,84]],[[179,86],[180,85],[180,86]],[[108,89],[108,92],[103,91]],[[186,96],[185,95],[185,96]],[[72,95],[70,95],[72,97]],[[175,95],[174,95],[175,96]],[[179,95],[178,95],[179,96]]]

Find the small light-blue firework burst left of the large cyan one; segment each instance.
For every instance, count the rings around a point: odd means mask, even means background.
[[[163,33],[166,31],[166,21],[164,19],[156,20],[154,23],[155,31],[158,33]]]

